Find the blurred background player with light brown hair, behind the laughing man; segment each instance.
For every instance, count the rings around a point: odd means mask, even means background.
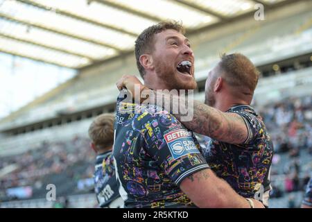
[[[89,126],[91,147],[96,152],[94,189],[100,207],[123,207],[116,183],[112,146],[114,144],[114,114],[101,114]]]

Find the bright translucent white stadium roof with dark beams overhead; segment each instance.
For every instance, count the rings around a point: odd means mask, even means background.
[[[0,52],[80,69],[133,51],[144,28],[181,21],[187,33],[287,0],[0,0]]]

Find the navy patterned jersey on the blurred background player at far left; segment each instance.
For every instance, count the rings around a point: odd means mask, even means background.
[[[100,207],[109,207],[112,201],[120,198],[114,169],[112,151],[96,156],[94,191]]]

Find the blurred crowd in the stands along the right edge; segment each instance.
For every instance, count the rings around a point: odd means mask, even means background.
[[[288,207],[298,207],[291,193],[304,191],[312,171],[312,96],[266,105],[260,114],[275,148],[271,198],[288,195]]]

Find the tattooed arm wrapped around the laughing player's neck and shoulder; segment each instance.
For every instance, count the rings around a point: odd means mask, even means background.
[[[185,99],[164,92],[155,92],[148,89],[135,76],[124,75],[117,83],[117,87],[121,89],[126,87],[132,94],[135,94],[135,86],[144,94],[155,96],[150,97],[149,103],[157,103],[157,101],[170,101],[171,107],[179,107],[180,104],[186,104]],[[145,96],[144,96],[145,97]],[[146,99],[146,97],[144,98]],[[162,105],[157,103],[157,105]],[[168,110],[169,112],[171,110]],[[195,133],[207,135],[220,142],[229,144],[241,144],[248,137],[248,129],[245,121],[239,114],[221,112],[199,101],[193,103],[193,119],[191,121],[183,121],[183,116],[179,113],[172,113],[184,126]]]

